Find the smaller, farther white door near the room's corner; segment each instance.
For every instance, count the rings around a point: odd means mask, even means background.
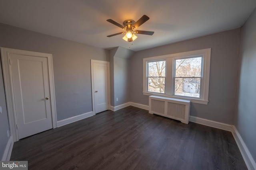
[[[108,63],[92,61],[95,113],[108,110]]]

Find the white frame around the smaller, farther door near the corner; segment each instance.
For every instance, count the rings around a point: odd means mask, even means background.
[[[95,102],[94,102],[94,71],[93,64],[94,63],[102,63],[107,64],[107,100],[108,100],[108,110],[110,109],[110,69],[109,69],[109,61],[100,61],[100,60],[92,60],[91,59],[91,82],[92,82],[92,112],[95,115]]]

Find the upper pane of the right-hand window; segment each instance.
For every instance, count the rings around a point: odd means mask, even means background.
[[[175,60],[175,77],[201,77],[202,57]]]

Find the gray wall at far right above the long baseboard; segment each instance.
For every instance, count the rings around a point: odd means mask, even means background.
[[[234,125],[256,161],[256,10],[242,27]]]

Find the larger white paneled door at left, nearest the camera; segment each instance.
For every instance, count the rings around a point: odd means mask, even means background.
[[[48,59],[10,54],[18,139],[53,128]]]

